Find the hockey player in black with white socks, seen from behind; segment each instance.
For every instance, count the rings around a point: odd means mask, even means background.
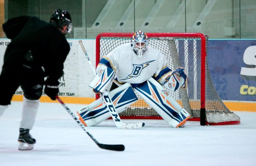
[[[70,50],[65,34],[72,30],[71,17],[67,11],[58,9],[52,14],[50,23],[22,16],[7,20],[3,30],[12,41],[4,54],[0,75],[0,116],[21,86],[24,98],[19,150],[33,149],[36,140],[29,130],[35,122],[43,85],[45,94],[52,100],[56,100],[59,92],[58,79]]]

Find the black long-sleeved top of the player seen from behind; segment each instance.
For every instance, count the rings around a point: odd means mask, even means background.
[[[3,30],[12,41],[4,54],[2,71],[28,65],[32,70],[42,70],[43,67],[44,76],[52,81],[62,76],[70,47],[58,28],[37,17],[21,16],[9,19],[3,24]],[[33,58],[26,59],[28,53]]]

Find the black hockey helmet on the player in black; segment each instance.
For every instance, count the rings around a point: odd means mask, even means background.
[[[68,25],[68,33],[72,31],[71,16],[66,10],[56,9],[52,14],[50,23],[58,28]]]

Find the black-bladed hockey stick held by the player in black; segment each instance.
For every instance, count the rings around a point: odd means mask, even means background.
[[[66,106],[66,104],[63,103],[63,101],[59,98],[59,96],[55,96],[56,99],[60,102],[60,104],[65,108],[66,111],[68,111],[69,115],[78,123],[78,125],[85,131],[92,140],[102,149],[111,150],[111,151],[124,151],[124,145],[107,145],[99,143],[92,135],[89,133],[89,131],[83,126],[83,124],[76,118],[76,116],[69,110],[69,108]]]

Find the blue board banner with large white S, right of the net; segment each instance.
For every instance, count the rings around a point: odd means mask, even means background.
[[[256,101],[256,40],[209,40],[207,57],[222,100]]]

